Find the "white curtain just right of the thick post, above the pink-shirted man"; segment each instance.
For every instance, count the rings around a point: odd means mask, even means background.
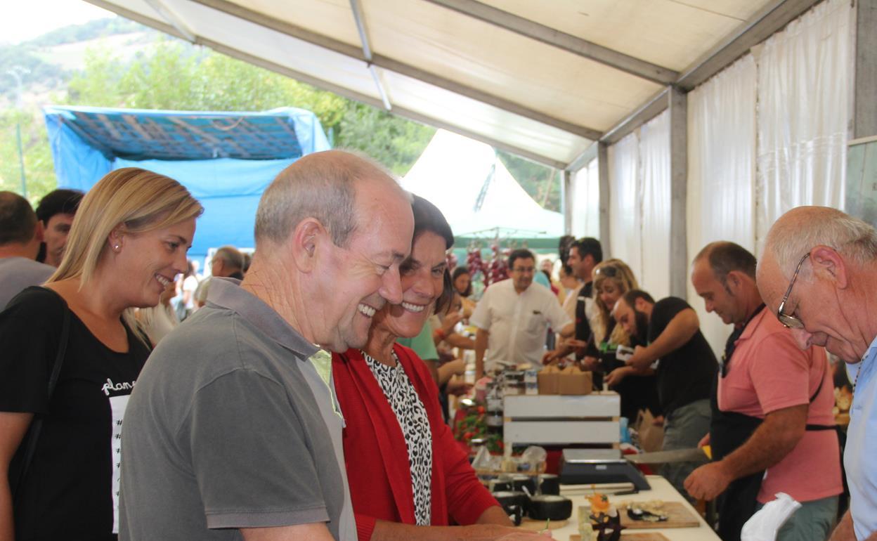
[[[716,240],[754,253],[756,81],[747,54],[688,94],[688,260]],[[731,326],[704,310],[690,280],[688,303],[721,354]]]

